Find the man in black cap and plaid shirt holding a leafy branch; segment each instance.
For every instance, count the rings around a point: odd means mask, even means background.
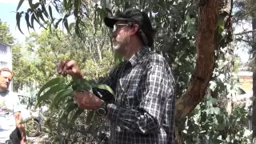
[[[110,93],[93,90],[74,93],[74,100],[83,109],[106,115],[111,124],[110,143],[174,143],[175,82],[166,60],[149,49],[155,33],[150,18],[127,9],[104,22],[114,28],[114,50],[126,59],[104,81],[116,98],[113,101]],[[58,72],[82,78],[74,61],[62,61]]]

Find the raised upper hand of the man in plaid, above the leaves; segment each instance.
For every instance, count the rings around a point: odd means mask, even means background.
[[[62,61],[58,64],[58,74],[69,74],[72,78],[82,78],[82,73],[74,60]]]

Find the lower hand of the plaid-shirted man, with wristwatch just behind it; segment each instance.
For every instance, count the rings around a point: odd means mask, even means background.
[[[102,99],[98,98],[94,94],[89,91],[86,92],[74,92],[73,93],[74,101],[78,103],[78,106],[81,109],[86,110],[97,110],[100,106],[102,106]]]

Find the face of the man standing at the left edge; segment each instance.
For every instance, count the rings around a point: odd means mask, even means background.
[[[8,90],[12,78],[13,76],[9,71],[2,71],[0,73],[0,92]]]

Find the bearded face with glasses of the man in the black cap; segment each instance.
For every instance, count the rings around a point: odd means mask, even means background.
[[[126,22],[114,24],[113,48],[115,51],[125,50],[130,42],[130,28]]]

